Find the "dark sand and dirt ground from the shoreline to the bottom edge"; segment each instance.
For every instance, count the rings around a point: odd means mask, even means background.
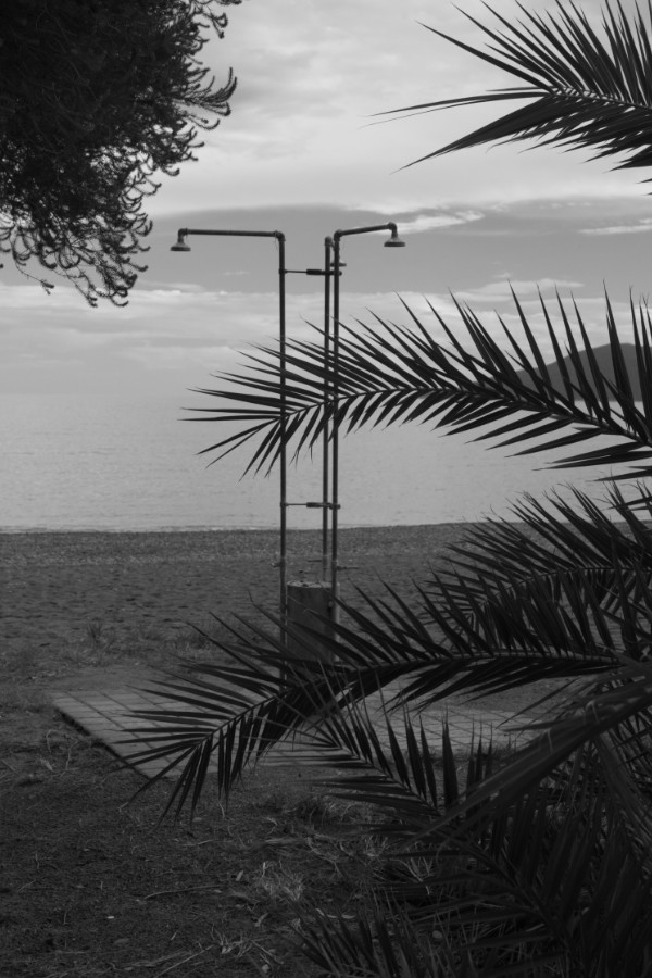
[[[401,529],[351,531],[342,550],[365,587],[410,587],[463,528]],[[314,788],[322,772],[263,766],[227,807],[210,788],[192,825],[159,824],[170,786],[130,801],[142,778],[51,705],[54,691],[138,688],[202,651],[188,623],[251,612],[250,591],[273,600],[267,537],[0,540],[3,978],[311,978],[300,920],[364,903],[383,847],[359,831],[368,813]],[[313,543],[293,541],[308,567]]]

